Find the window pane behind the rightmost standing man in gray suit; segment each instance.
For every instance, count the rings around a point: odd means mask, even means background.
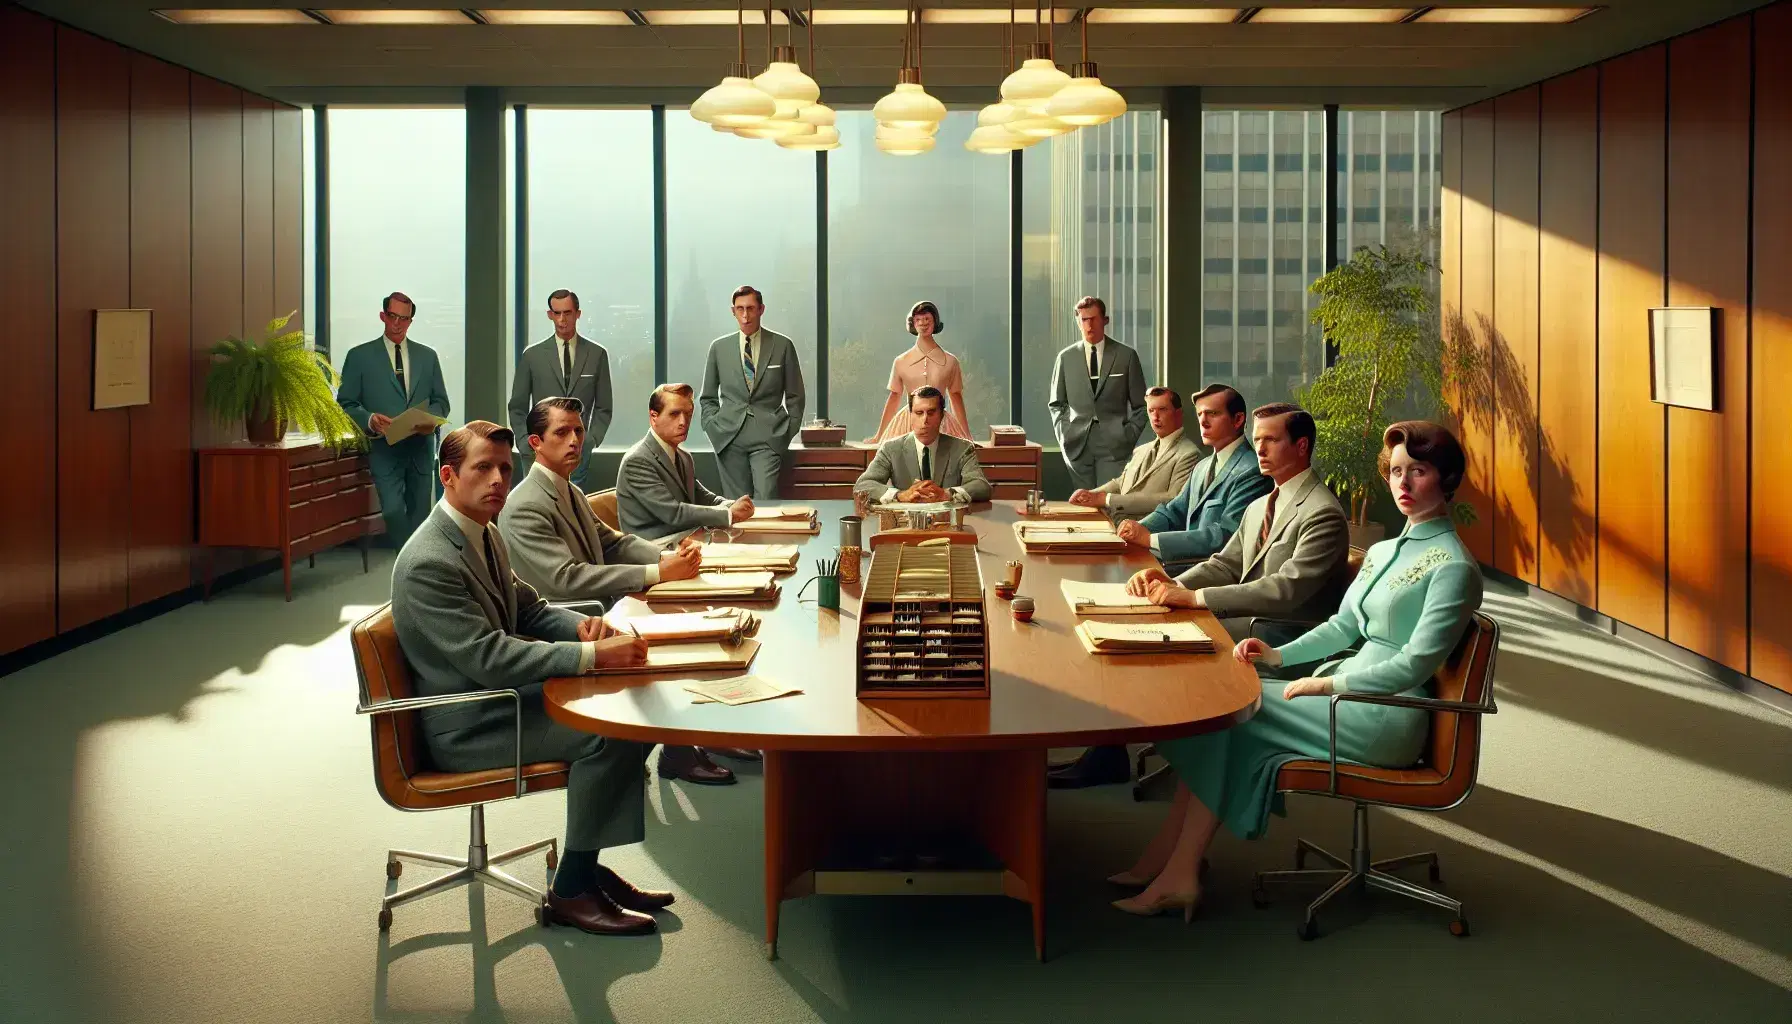
[[[1138,350],[1147,386],[1161,384],[1161,124],[1133,111],[1021,156],[1021,425],[1036,441],[1052,443],[1052,362],[1081,337],[1082,296],[1107,303],[1107,335]]]

